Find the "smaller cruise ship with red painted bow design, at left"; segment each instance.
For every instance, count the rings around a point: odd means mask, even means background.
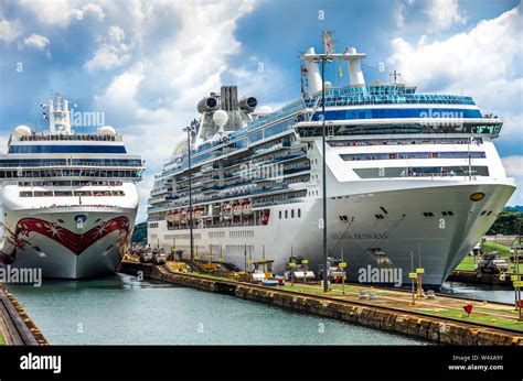
[[[0,262],[46,277],[114,272],[135,226],[143,162],[110,126],[76,133],[60,95],[41,107],[49,130],[17,127],[0,155]]]

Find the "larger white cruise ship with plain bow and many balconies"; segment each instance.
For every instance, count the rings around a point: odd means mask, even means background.
[[[148,241],[190,257],[191,181],[198,258],[242,270],[265,258],[282,273],[302,257],[318,271],[325,196],[328,254],[343,251],[349,280],[399,269],[409,284],[423,268],[424,285],[439,287],[515,190],[492,142],[502,120],[468,96],[420,94],[396,72],[389,83],[366,84],[365,54],[325,52],[324,77],[337,78],[322,80],[324,55],[309,48],[300,55],[301,97],[278,110],[257,110],[236,86],[201,99],[190,141],[154,177]]]

